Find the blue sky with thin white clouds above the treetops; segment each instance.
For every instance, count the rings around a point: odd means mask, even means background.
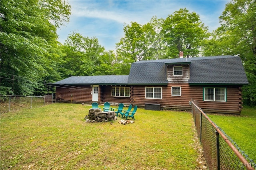
[[[57,33],[64,43],[68,34],[80,33],[96,37],[106,50],[115,50],[116,43],[124,37],[124,23],[148,23],[153,16],[166,19],[180,8],[196,12],[202,22],[213,31],[220,26],[218,17],[230,0],[70,0],[70,22]]]

